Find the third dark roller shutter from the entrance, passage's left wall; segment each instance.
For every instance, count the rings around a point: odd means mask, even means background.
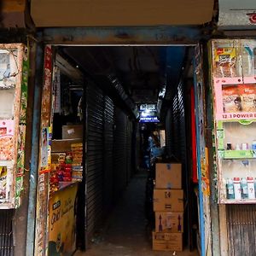
[[[127,184],[127,117],[119,108],[114,111],[113,170],[114,199],[118,199]]]

